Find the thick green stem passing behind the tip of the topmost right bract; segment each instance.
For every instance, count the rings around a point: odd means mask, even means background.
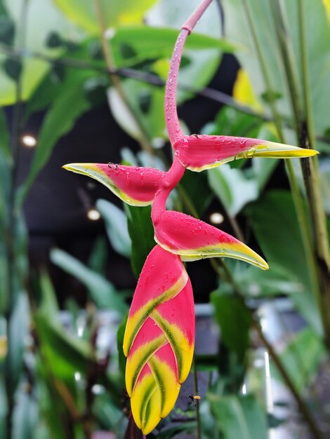
[[[282,63],[286,73],[286,81],[289,89],[291,107],[294,115],[294,126],[299,146],[302,148],[315,149],[315,135],[312,121],[312,107],[310,102],[308,54],[305,43],[305,25],[303,13],[303,1],[298,1],[298,30],[300,41],[300,67],[303,77],[303,98],[299,96],[298,74],[296,73],[296,61],[294,60],[293,48],[286,25],[283,8],[280,2],[270,1],[273,20],[277,32],[277,40]],[[303,158],[301,161],[308,206],[312,224],[313,247],[312,255],[315,261],[315,271],[318,288],[315,290],[319,313],[324,329],[324,342],[330,351],[330,252],[329,237],[326,229],[326,215],[322,202],[322,193],[319,178],[318,159]]]

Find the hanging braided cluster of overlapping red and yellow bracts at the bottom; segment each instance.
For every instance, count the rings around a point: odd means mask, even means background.
[[[180,257],[159,245],[140,274],[123,348],[132,414],[147,434],[171,412],[194,351],[192,286]]]

